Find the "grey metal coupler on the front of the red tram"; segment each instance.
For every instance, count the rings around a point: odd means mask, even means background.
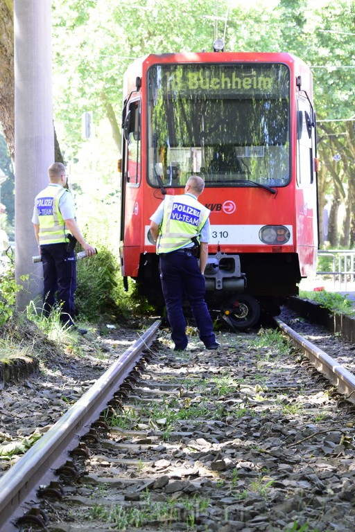
[[[241,273],[239,255],[227,255],[218,251],[209,255],[205,268],[207,292],[243,292],[246,287],[245,275]]]

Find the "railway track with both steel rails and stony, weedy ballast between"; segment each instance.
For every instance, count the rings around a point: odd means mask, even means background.
[[[277,322],[327,380],[274,332],[177,355],[156,322],[1,477],[0,531],[353,530],[354,377]]]

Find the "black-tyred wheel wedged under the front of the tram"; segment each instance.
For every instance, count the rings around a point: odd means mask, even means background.
[[[245,330],[259,320],[260,305],[248,294],[236,294],[223,307],[223,317],[231,328]]]

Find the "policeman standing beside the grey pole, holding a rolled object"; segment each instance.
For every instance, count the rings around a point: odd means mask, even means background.
[[[60,321],[74,326],[74,292],[76,290],[76,257],[69,249],[71,236],[83,246],[87,256],[96,253],[83,237],[75,219],[75,204],[67,188],[67,174],[62,163],[48,169],[49,185],[35,197],[33,227],[43,264],[43,312],[49,315],[57,301],[61,304]],[[75,242],[75,240],[74,240]],[[85,334],[87,330],[78,329]]]

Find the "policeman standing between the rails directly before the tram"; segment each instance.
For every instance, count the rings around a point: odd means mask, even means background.
[[[213,323],[205,303],[205,267],[208,257],[209,209],[198,202],[205,188],[201,177],[192,175],[184,194],[166,195],[150,217],[150,233],[157,243],[162,290],[175,351],[187,348],[182,294],[187,296],[199,336],[207,349],[217,349]],[[192,238],[200,241],[200,261],[193,255]]]

